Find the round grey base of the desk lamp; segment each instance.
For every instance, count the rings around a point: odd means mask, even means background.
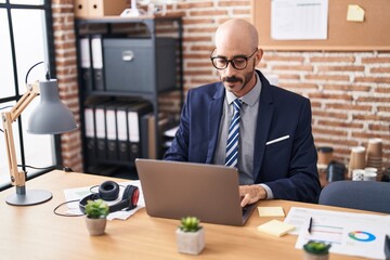
[[[26,194],[12,194],[5,202],[13,206],[31,206],[46,203],[53,197],[51,192],[43,190],[28,190]]]

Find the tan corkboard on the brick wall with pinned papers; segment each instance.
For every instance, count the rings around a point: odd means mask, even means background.
[[[252,0],[252,23],[264,50],[390,51],[390,0],[328,0],[326,40],[271,39],[271,0]],[[364,22],[348,22],[348,4],[365,11]]]

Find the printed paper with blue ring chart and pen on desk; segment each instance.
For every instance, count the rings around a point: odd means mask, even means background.
[[[309,233],[310,218],[312,229]],[[385,259],[385,236],[390,234],[389,216],[291,207],[285,222],[296,226],[290,234],[299,233],[298,249],[309,240],[322,240],[332,244],[330,252]]]

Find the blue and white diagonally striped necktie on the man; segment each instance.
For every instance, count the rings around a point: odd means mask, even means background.
[[[242,104],[238,99],[233,101],[234,113],[227,134],[225,166],[235,168],[238,167],[239,109]]]

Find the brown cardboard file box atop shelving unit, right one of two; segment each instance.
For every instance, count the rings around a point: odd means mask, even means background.
[[[129,8],[127,0],[87,0],[88,16],[101,17],[106,15],[120,15]]]

